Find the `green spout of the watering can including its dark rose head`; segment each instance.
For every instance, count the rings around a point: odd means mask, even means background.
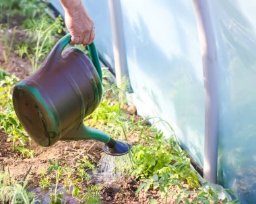
[[[103,151],[112,156],[121,156],[131,150],[131,145],[108,136],[105,132],[82,124],[78,129],[63,136],[60,140],[98,140],[104,142]]]

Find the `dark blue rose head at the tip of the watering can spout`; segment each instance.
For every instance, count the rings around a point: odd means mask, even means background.
[[[106,145],[104,145],[102,149],[106,154],[112,156],[121,156],[127,154],[131,150],[131,148],[131,144],[128,144],[126,142],[120,142],[114,140],[113,138],[110,138],[110,141]]]

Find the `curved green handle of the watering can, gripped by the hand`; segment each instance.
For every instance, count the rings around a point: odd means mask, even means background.
[[[57,42],[53,52],[57,52],[61,55],[62,50],[65,48],[65,46],[67,46],[67,44],[69,44],[69,42],[71,42],[71,35],[67,34],[67,35],[63,36],[63,38],[61,38],[61,40],[59,40],[59,42]],[[98,75],[100,77],[100,81],[102,81],[102,70],[101,70],[101,66],[100,66],[100,60],[98,58],[98,52],[97,52],[94,42],[92,42],[90,45],[88,45],[88,50],[90,53],[90,59],[92,60],[92,64],[94,64],[94,66],[98,72]]]

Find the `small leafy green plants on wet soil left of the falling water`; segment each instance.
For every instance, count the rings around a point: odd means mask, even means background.
[[[51,203],[61,203],[63,193],[70,193],[77,201],[81,203],[100,203],[100,190],[102,185],[90,183],[92,172],[96,168],[87,157],[84,157],[75,163],[73,168],[69,168],[67,164],[61,166],[60,162],[50,161],[47,173],[40,170],[42,178],[39,181],[40,187],[52,187],[51,172],[54,172],[55,189],[52,194]],[[84,181],[86,180],[86,183]],[[86,185],[82,190],[82,185]],[[51,189],[50,189],[51,191]]]

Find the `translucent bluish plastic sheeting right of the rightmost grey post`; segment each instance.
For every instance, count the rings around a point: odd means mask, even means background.
[[[220,64],[218,182],[256,203],[256,1],[209,1]]]

